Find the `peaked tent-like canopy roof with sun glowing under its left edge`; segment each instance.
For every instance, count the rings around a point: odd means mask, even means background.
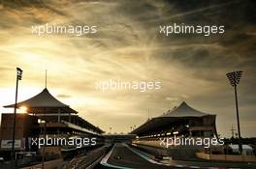
[[[69,107],[69,105],[60,102],[58,99],[55,99],[49,92],[48,89],[45,88],[40,94],[36,95],[31,99],[26,99],[16,104],[5,105],[4,107],[22,107],[25,106],[28,109],[29,113],[42,113],[44,112],[57,112],[58,109],[61,110],[61,113],[78,113]]]

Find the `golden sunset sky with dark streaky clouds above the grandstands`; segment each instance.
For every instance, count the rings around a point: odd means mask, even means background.
[[[106,132],[129,132],[182,101],[216,114],[217,131],[237,127],[234,89],[226,73],[242,70],[241,136],[256,136],[256,13],[249,0],[0,1],[0,111],[45,88]],[[95,25],[84,36],[32,34],[44,24]],[[160,25],[224,25],[212,36],[159,33]],[[101,91],[97,83],[159,81],[161,89]]]

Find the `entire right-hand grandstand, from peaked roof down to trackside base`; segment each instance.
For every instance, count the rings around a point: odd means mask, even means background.
[[[134,129],[131,134],[136,134],[137,138],[132,141],[132,145],[158,158],[172,156],[174,159],[196,159],[196,153],[203,152],[204,145],[187,144],[189,141],[176,145],[176,139],[218,139],[215,120],[216,115],[196,110],[182,102],[173,110],[148,119],[142,126]],[[166,147],[170,139],[172,145]],[[161,140],[165,140],[165,143]]]

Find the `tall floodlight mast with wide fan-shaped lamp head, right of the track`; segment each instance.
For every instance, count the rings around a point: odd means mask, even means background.
[[[237,86],[240,83],[240,77],[241,77],[242,71],[233,71],[228,72],[226,75],[230,81],[231,86],[235,89],[235,99],[236,99],[236,109],[237,109],[237,120],[238,120],[238,130],[239,130],[239,146],[240,146],[240,154],[242,153],[242,146],[240,142],[240,113],[239,113],[239,104],[238,104],[238,92],[237,92]]]

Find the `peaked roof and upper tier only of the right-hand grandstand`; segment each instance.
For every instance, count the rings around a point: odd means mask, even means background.
[[[166,136],[217,137],[216,115],[201,112],[182,102],[173,110],[147,120],[131,133],[140,139]]]

